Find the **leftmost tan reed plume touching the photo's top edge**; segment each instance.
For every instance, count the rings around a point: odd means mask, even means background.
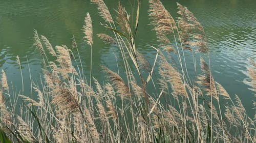
[[[108,7],[106,7],[105,3],[102,0],[91,0],[91,2],[98,5],[99,15],[106,22],[114,23]]]

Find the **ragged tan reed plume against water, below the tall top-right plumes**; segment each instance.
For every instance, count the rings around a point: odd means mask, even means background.
[[[199,79],[198,84],[205,87],[204,90],[207,92],[206,95],[208,96],[212,95],[212,97],[215,97],[217,100],[219,100],[219,97],[217,95],[217,89],[215,86],[215,81],[210,73],[209,66],[205,63],[203,58],[201,58],[200,61],[201,61],[201,69],[203,71],[203,75],[198,77]]]

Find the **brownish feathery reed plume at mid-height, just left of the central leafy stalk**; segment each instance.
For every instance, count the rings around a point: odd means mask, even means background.
[[[130,89],[127,87],[126,83],[123,79],[115,72],[111,71],[110,69],[106,68],[105,66],[101,66],[103,72],[108,73],[108,79],[112,81],[113,87],[117,90],[116,92],[121,97],[130,97]]]

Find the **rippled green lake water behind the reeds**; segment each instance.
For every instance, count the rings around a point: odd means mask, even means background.
[[[253,117],[252,100],[255,100],[255,97],[247,83],[249,78],[246,67],[249,59],[254,61],[256,59],[256,1],[184,0],[178,2],[188,7],[205,29],[209,40],[211,70],[215,80],[223,85],[231,97],[237,94],[249,116]],[[115,14],[117,1],[108,0],[105,3]],[[121,1],[121,3],[130,11],[133,1]],[[148,20],[147,3],[145,0],[142,1],[136,44],[138,50],[153,63],[155,50],[147,45],[157,46],[158,43],[155,42],[155,33],[151,31],[152,26],[148,25],[150,20]],[[165,0],[162,3],[173,17],[178,16],[176,1]],[[105,45],[96,36],[98,33],[110,32],[100,25],[104,20],[98,16],[96,6],[90,1],[0,0],[0,70],[5,70],[9,83],[12,82],[14,87],[17,87],[17,91],[21,89],[22,82],[16,64],[16,55],[19,55],[23,65],[24,95],[30,94],[28,64],[34,82],[40,82],[41,56],[33,46],[33,29],[36,29],[38,34],[46,36],[52,45],[65,44],[71,47],[71,38],[74,35],[84,71],[89,78],[90,47],[82,41],[81,31],[87,12],[91,14],[93,21],[93,76],[102,81],[100,65],[117,71],[115,56],[120,62],[121,58],[118,47]],[[77,52],[74,53],[76,56]],[[185,55],[189,57],[191,53],[185,52]],[[193,71],[193,63],[190,62],[192,60],[187,59],[188,71]]]

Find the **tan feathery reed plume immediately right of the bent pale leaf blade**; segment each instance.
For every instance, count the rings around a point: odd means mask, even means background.
[[[165,75],[167,82],[172,86],[173,94],[187,97],[185,84],[180,77],[181,74],[167,62],[162,52],[160,52],[159,66],[161,68],[161,74]]]

